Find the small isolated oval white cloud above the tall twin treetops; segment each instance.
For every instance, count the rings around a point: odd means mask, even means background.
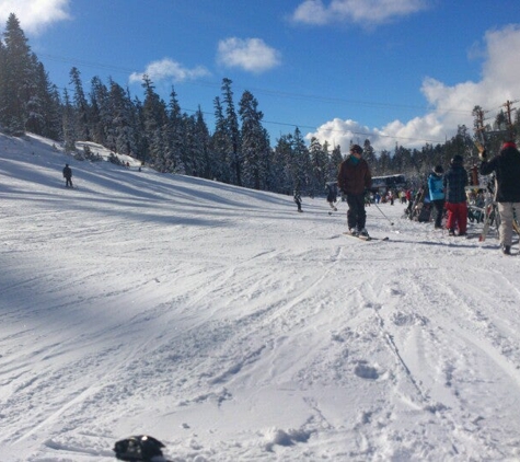
[[[236,37],[219,42],[217,61],[228,68],[264,72],[280,63],[280,54],[261,38]]]

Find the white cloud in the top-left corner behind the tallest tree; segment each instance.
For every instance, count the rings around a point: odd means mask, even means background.
[[[20,21],[26,33],[38,34],[58,21],[70,20],[71,0],[0,0],[0,23],[2,28],[11,13]]]

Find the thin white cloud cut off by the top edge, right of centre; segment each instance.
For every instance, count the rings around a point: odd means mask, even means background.
[[[426,10],[428,3],[429,0],[332,0],[325,5],[322,0],[305,0],[292,20],[315,25],[338,21],[375,25]]]

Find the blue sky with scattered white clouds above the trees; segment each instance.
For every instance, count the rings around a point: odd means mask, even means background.
[[[443,142],[520,100],[518,0],[0,0],[59,88],[112,77],[142,100],[199,105],[210,130],[223,78],[251,91],[271,145],[298,126],[375,149]],[[513,107],[520,107],[516,103]]]

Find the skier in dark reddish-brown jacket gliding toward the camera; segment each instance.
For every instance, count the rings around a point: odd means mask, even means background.
[[[365,193],[372,186],[372,174],[367,161],[362,158],[359,145],[350,147],[350,154],[339,165],[337,184],[339,190],[347,196],[347,223],[354,235],[368,236],[365,228],[367,211],[365,210]]]

